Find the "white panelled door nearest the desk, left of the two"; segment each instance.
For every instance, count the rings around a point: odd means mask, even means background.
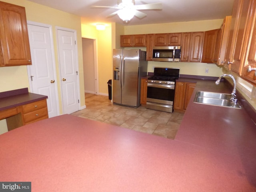
[[[59,114],[56,71],[53,54],[52,28],[28,22],[32,65],[28,66],[30,92],[47,95],[49,117]],[[31,23],[31,24],[30,24]]]

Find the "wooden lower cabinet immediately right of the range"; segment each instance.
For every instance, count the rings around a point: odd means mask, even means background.
[[[174,96],[174,110],[184,112],[188,106],[196,84],[190,82],[176,82]]]

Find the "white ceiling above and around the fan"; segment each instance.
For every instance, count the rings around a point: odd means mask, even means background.
[[[116,22],[125,25],[117,15],[108,17],[116,9],[90,6],[117,6],[117,0],[29,0],[64,12],[81,16],[91,23]],[[185,22],[222,19],[232,14],[234,0],[135,0],[136,5],[162,3],[162,10],[141,10],[147,16],[132,18],[127,25]]]

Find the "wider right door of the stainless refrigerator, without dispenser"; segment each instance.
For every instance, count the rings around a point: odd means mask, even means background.
[[[138,106],[138,70],[140,50],[123,50],[122,104]]]

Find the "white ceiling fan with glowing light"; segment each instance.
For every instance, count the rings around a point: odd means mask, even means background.
[[[118,14],[118,16],[124,20],[126,23],[130,21],[134,16],[138,18],[144,18],[147,14],[138,10],[152,10],[152,9],[162,9],[162,3],[152,3],[144,5],[135,5],[134,0],[118,0],[116,7],[111,6],[91,6],[91,8],[108,8],[108,9],[118,9],[116,12],[110,14],[108,17]]]

